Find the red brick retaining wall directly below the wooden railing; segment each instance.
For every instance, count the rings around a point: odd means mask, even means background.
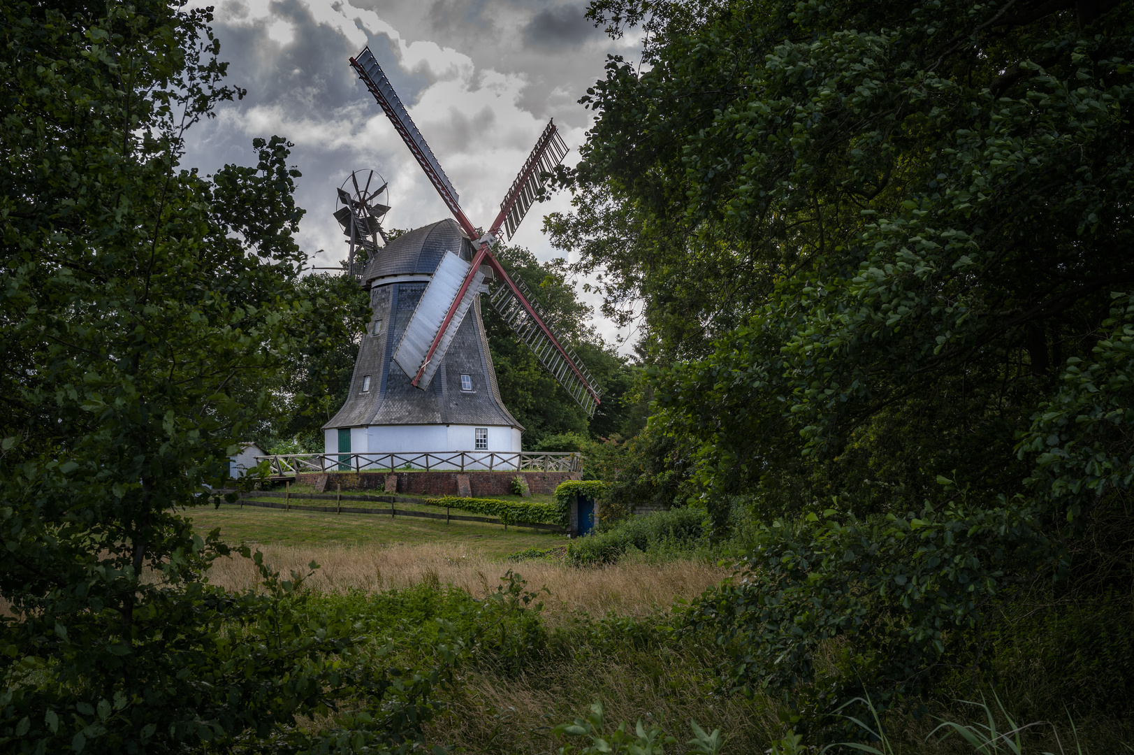
[[[457,495],[457,475],[468,477],[472,494],[477,498],[490,498],[496,495],[511,493],[511,479],[519,475],[527,483],[527,488],[536,494],[551,494],[564,480],[582,479],[579,472],[516,472],[516,471],[398,471],[398,472],[327,472],[328,493],[341,485],[344,490],[386,490],[386,478],[396,475],[397,493],[409,495]],[[295,481],[302,485],[315,485],[323,475],[303,472],[296,475]],[[391,480],[392,481],[392,480]],[[389,490],[393,493],[393,490]]]

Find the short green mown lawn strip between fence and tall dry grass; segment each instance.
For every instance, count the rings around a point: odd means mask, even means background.
[[[381,504],[374,504],[381,505]],[[443,511],[443,510],[442,510]],[[259,509],[222,505],[188,512],[205,534],[217,527],[230,545],[242,540],[257,545],[420,545],[462,543],[490,557],[503,557],[530,547],[548,548],[566,543],[562,535],[536,532],[522,527],[480,522],[450,522],[381,514],[335,514],[293,509]]]

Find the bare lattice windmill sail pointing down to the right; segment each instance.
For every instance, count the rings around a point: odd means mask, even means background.
[[[490,301],[516,336],[532,350],[543,369],[583,408],[587,417],[594,417],[602,388],[579,361],[575,350],[565,350],[560,345],[562,337],[547,326],[542,308],[532,299],[524,282],[516,279],[510,286],[499,284]]]

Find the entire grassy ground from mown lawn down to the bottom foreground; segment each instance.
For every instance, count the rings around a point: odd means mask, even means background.
[[[602,559],[592,561],[509,560],[508,555],[522,550],[552,548],[568,540],[516,528],[505,532],[498,525],[235,506],[197,509],[191,515],[202,530],[220,527],[229,543],[255,543],[268,563],[285,574],[306,573],[307,565],[316,562],[319,568],[306,582],[315,599],[329,607],[342,602],[350,611],[361,611],[359,616],[374,611],[387,626],[375,630],[375,639],[388,637],[396,643],[398,657],[407,665],[434,662],[426,641],[437,631],[433,618],[475,622],[467,612],[476,613],[482,610],[479,606],[490,606],[483,609],[490,613],[503,611],[499,621],[482,620],[480,649],[459,668],[455,683],[442,694],[447,707],[426,728],[431,743],[454,744],[457,752],[543,755],[567,744],[551,727],[585,715],[592,701],[604,704],[613,725],[628,721],[633,728],[642,719],[648,725],[660,724],[679,741],[688,739],[691,719],[706,729],[720,728],[726,735],[721,755],[769,752],[773,743],[798,728],[784,718],[788,711],[780,701],[760,694],[748,698],[719,694],[719,673],[735,658],[712,632],[672,635],[669,629],[682,623],[682,602],[731,571],[705,557],[701,546],[694,547],[697,538],[692,530],[680,535],[677,526],[683,520],[676,514],[667,518],[668,530],[658,522],[650,527],[646,521],[631,522],[623,528],[621,540],[607,535],[593,538],[593,544],[572,544],[589,552],[587,546],[594,551],[606,543],[607,550],[618,551],[613,557],[603,551]],[[675,532],[680,537],[675,539]],[[636,542],[643,534],[650,543]],[[538,618],[524,618],[535,612],[534,604],[503,610],[483,599],[496,593],[509,571],[526,580],[526,589],[538,593],[543,604]],[[218,561],[209,579],[230,589],[257,584],[256,570],[242,557]],[[372,609],[366,609],[367,602]],[[496,647],[498,643],[501,647]],[[501,649],[509,643],[523,645],[518,655]],[[837,658],[838,643],[832,641],[823,646],[816,663],[828,669]],[[1005,671],[1008,676],[999,680],[998,689],[958,677],[926,701],[929,711],[980,725],[982,710],[960,701],[992,701],[995,693],[1005,693],[1001,699],[1009,711],[1029,707],[1035,690],[1021,695],[1007,689],[1021,669]],[[1073,715],[1076,728],[1072,719],[1048,716],[1050,722],[1027,730],[1023,753],[1128,752],[1119,743],[1129,740],[1131,729],[1120,718],[1067,703],[1064,715]],[[960,737],[930,736],[939,723],[933,715],[891,718],[892,752],[974,752]],[[1029,723],[1043,718],[1038,711],[1024,715],[1031,716]],[[997,718],[998,725],[1006,723],[1004,715]],[[818,753],[822,740],[806,729],[801,731],[810,748],[775,752]]]

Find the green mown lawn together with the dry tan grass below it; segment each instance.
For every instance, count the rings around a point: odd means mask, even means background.
[[[517,551],[552,548],[567,539],[517,527],[505,532],[499,525],[479,522],[235,506],[201,507],[189,515],[202,534],[219,527],[231,545],[255,544],[282,573],[319,563],[310,581],[316,590],[437,584],[483,597],[515,569],[533,588],[548,589],[549,613],[646,615],[697,595],[727,573],[716,564],[687,560],[657,564],[627,559],[593,569],[556,560],[508,562]],[[256,584],[256,572],[244,559],[227,559],[213,567],[210,581],[247,588]]]

